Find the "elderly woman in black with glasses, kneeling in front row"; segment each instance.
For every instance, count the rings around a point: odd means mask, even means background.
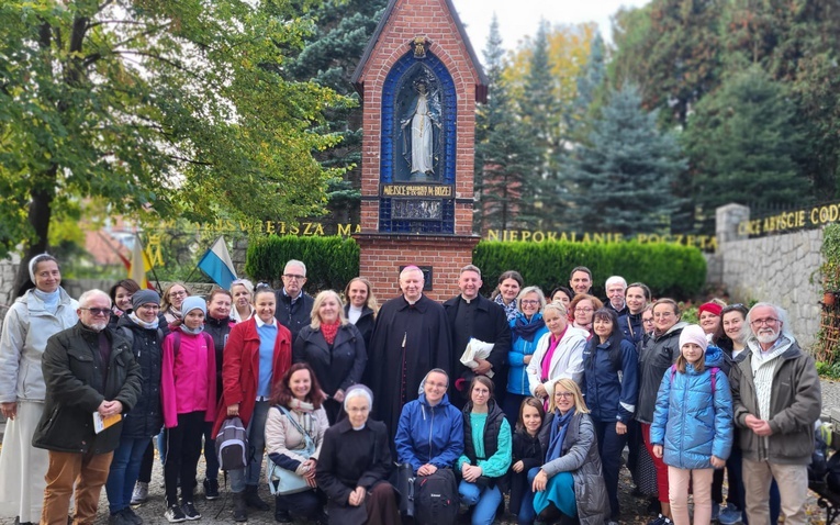
[[[368,418],[373,396],[367,387],[350,387],[347,417],[327,428],[316,466],[317,485],[329,499],[329,523],[393,525],[401,523],[391,476],[391,447],[382,422]]]

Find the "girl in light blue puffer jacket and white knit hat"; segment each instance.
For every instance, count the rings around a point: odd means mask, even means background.
[[[712,477],[732,448],[732,398],[719,367],[724,353],[708,346],[697,325],[680,335],[680,357],[662,377],[650,443],[668,465],[669,500],[675,525],[688,525],[688,483],[694,525],[712,518]]]

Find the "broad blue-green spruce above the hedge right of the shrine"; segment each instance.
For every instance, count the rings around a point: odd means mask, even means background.
[[[656,110],[642,109],[635,86],[611,94],[589,144],[574,149],[565,169],[578,230],[631,234],[668,225],[679,203],[673,186],[686,163],[657,119]]]

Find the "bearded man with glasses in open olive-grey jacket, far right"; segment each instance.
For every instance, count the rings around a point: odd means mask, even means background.
[[[747,358],[732,368],[732,404],[743,451],[750,525],[769,525],[770,483],[782,495],[785,525],[808,523],[808,463],[821,393],[814,358],[786,331],[785,311],[755,304],[743,324]]]

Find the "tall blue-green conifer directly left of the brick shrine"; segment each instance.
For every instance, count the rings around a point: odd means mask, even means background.
[[[326,113],[324,130],[341,137],[340,144],[315,154],[325,167],[341,168],[327,186],[326,222],[358,221],[361,202],[361,107],[350,77],[365,46],[382,16],[388,0],[345,0],[318,3],[311,15],[315,21],[305,46],[287,65],[292,78],[315,81],[355,103]]]

